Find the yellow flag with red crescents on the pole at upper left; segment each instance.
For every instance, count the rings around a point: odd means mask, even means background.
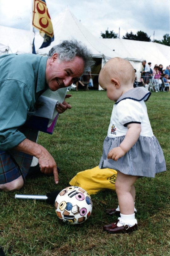
[[[45,0],[33,0],[32,25],[39,30],[44,42],[40,48],[47,47],[54,41],[54,32]]]

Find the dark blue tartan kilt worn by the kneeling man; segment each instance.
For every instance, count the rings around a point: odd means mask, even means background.
[[[19,129],[27,139],[36,142],[38,131],[21,126]],[[16,180],[22,175],[23,180],[28,174],[32,162],[32,155],[25,154],[18,150],[0,150],[0,184]]]

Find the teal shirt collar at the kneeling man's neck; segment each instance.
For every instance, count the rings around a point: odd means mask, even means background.
[[[45,82],[45,70],[48,57],[42,57],[38,67],[38,79],[37,79],[37,90],[36,92],[42,91],[46,87]]]

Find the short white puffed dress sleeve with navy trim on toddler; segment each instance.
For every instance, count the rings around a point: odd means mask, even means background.
[[[139,101],[126,99],[118,103],[118,116],[120,124],[127,126],[128,124],[141,124],[143,119],[142,106]]]

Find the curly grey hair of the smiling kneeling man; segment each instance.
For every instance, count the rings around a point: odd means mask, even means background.
[[[77,40],[64,40],[60,44],[51,48],[48,53],[48,58],[51,58],[54,53],[58,54],[59,62],[71,61],[75,56],[79,56],[84,60],[84,71],[88,70],[95,62],[92,59],[92,53],[87,47]]]

